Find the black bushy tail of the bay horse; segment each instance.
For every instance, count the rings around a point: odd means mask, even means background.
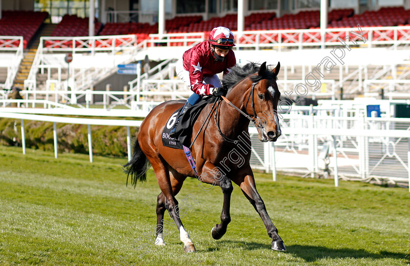
[[[131,175],[131,184],[135,186],[137,185],[137,181],[146,181],[146,171],[151,167],[151,163],[148,161],[148,158],[141,150],[140,143],[138,142],[138,138],[135,140],[134,143],[134,153],[132,154],[131,160],[128,163],[123,165],[124,172],[127,173],[127,185],[128,185],[128,177]]]

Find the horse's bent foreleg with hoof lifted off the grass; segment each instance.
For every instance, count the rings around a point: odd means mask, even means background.
[[[222,192],[224,193],[224,204],[222,207],[221,213],[221,223],[215,225],[212,230],[213,239],[221,239],[226,233],[226,228],[230,223],[230,198],[232,194],[232,182],[227,178],[221,171],[218,171],[217,168],[211,163],[205,163],[202,168],[203,174],[200,176],[200,180],[207,184],[215,184],[221,187]]]

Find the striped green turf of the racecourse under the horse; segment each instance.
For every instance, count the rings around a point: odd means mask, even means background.
[[[0,265],[409,265],[410,193],[358,182],[256,173],[257,188],[288,252],[270,249],[261,218],[237,186],[232,222],[220,222],[219,187],[188,179],[192,209],[182,219],[197,253],[185,254],[177,228],[165,225],[166,246],[146,244],[156,224],[160,192],[153,171],[147,183],[125,187],[125,158],[0,147]],[[169,221],[169,216],[165,220]],[[137,240],[137,241],[136,241]],[[144,256],[140,256],[146,253]],[[121,256],[121,257],[120,257]]]

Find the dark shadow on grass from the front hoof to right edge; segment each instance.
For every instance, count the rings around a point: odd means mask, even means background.
[[[296,256],[303,258],[307,262],[314,262],[324,258],[370,258],[370,259],[400,259],[410,263],[409,254],[400,252],[380,251],[379,253],[370,253],[364,249],[353,248],[328,248],[315,246],[293,245],[287,246],[287,252],[294,253]]]

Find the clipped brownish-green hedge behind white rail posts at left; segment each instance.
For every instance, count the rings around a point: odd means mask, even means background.
[[[24,120],[24,129],[27,148],[54,151],[53,123]],[[130,132],[135,139],[138,129],[131,127]],[[87,125],[57,123],[58,151],[88,153],[87,134]],[[91,126],[91,137],[93,154],[126,156],[126,127]],[[0,118],[0,145],[21,146],[20,119]]]

